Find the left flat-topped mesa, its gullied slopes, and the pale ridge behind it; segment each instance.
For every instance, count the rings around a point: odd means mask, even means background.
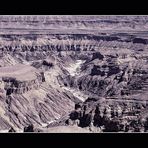
[[[13,127],[19,131],[29,124],[44,127],[79,101],[59,85],[57,77],[65,72],[57,55],[40,51],[26,58],[21,52],[4,52],[0,68],[1,130]]]

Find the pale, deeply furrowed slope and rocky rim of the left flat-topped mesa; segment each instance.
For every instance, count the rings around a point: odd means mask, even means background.
[[[12,66],[13,70],[16,66]],[[24,67],[19,66],[21,70]],[[29,68],[35,71],[27,70]],[[5,72],[11,77],[1,79],[1,130],[10,127],[23,130],[29,124],[35,127],[48,125],[71,111],[74,103],[79,101],[73,94],[60,88],[56,73],[55,76],[50,71],[43,73],[28,65],[25,66],[27,73],[21,70],[15,70],[18,75],[12,71],[11,74]]]

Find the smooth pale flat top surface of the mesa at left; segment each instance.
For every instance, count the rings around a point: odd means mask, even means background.
[[[0,67],[0,77],[16,78],[19,81],[29,81],[36,79],[36,72],[37,69],[34,67],[22,64]]]

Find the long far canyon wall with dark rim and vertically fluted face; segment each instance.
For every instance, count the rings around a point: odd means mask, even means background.
[[[142,34],[142,33],[141,33]],[[48,51],[96,51],[98,47],[127,48],[139,50],[147,48],[148,39],[137,37],[135,33],[128,34],[31,34],[28,35],[0,35],[0,51],[4,53],[13,52],[48,52]]]

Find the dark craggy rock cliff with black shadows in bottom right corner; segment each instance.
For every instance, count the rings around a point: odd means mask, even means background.
[[[65,123],[92,132],[147,132],[147,101],[89,98],[76,104]]]

